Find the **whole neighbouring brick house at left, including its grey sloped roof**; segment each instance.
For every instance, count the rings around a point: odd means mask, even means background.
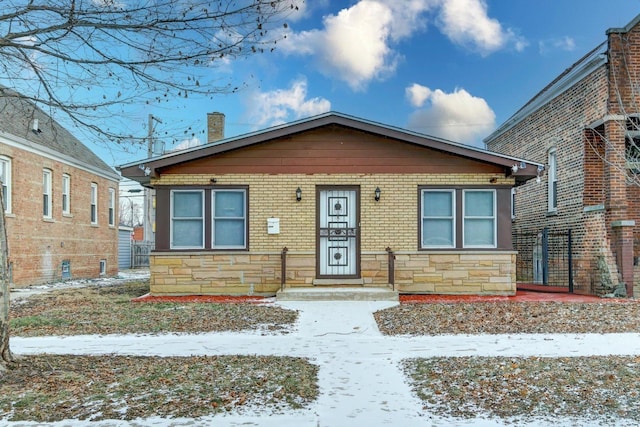
[[[118,272],[119,175],[6,88],[0,88],[0,179],[13,285]]]

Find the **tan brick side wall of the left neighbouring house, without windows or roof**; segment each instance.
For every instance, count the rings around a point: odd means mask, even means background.
[[[98,277],[100,260],[107,275],[118,272],[118,183],[50,158],[0,143],[11,158],[12,212],[7,215],[9,262],[15,286],[59,280],[62,261],[72,278]],[[42,170],[52,171],[52,218],[42,216]],[[62,214],[62,174],[71,176],[71,213]],[[98,184],[98,225],[90,223],[90,186]],[[116,226],[108,226],[108,188],[116,197]]]

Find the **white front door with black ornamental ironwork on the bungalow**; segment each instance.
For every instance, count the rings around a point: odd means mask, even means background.
[[[318,276],[358,278],[358,190],[320,189],[318,197]]]

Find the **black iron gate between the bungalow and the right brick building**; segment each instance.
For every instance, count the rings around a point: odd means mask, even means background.
[[[573,293],[571,230],[515,230],[516,282],[566,287]]]

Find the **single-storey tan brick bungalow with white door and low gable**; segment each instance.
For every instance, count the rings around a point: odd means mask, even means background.
[[[327,113],[119,169],[156,191],[154,295],[512,295],[511,189],[543,166]]]

